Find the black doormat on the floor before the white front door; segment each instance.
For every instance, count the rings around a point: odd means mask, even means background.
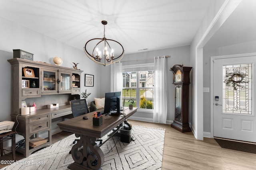
[[[256,143],[246,143],[243,141],[232,141],[228,139],[218,139],[218,138],[214,138],[214,139],[222,148],[239,150],[243,152],[250,152],[250,153],[256,154]]]

